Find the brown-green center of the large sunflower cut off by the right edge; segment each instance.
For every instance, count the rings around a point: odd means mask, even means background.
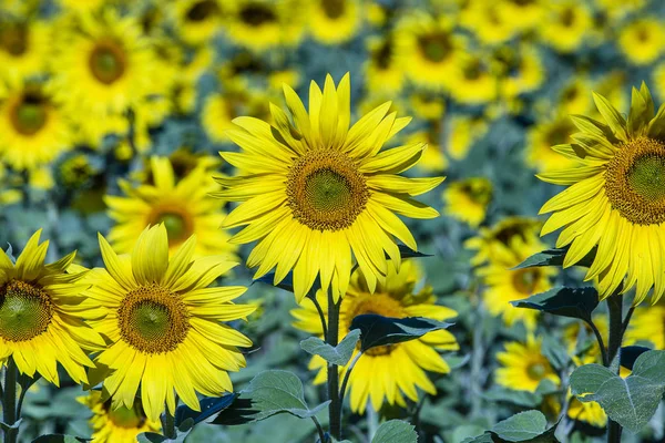
[[[612,208],[636,225],[665,222],[665,145],[638,137],[607,164],[605,193]]]

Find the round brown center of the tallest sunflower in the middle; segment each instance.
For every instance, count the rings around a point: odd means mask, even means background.
[[[310,151],[290,167],[286,193],[294,218],[311,229],[339,230],[365,210],[365,176],[345,154]]]

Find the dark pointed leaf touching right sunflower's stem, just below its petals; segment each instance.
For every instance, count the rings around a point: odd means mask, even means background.
[[[523,300],[511,301],[518,308],[535,309],[560,317],[591,322],[591,313],[600,303],[595,288],[554,288]]]

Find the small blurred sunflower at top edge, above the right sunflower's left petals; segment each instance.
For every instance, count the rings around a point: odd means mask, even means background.
[[[593,27],[589,8],[574,0],[563,0],[548,6],[546,19],[539,27],[543,42],[554,50],[570,53],[577,50]]]

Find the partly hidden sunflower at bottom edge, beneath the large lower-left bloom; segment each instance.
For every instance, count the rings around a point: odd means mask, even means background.
[[[158,421],[145,416],[140,399],[132,408],[120,406],[116,410],[111,408],[111,400],[102,400],[100,391],[90,391],[78,400],[92,411],[90,426],[94,443],[134,443],[139,434],[162,429]]]

